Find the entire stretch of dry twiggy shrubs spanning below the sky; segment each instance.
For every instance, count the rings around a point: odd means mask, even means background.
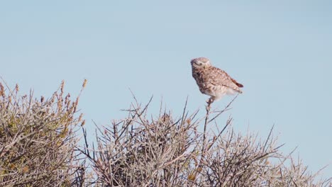
[[[86,81],[82,86],[84,88]],[[97,128],[94,144],[64,83],[50,98],[0,84],[0,186],[331,186],[283,155],[272,134],[243,135],[223,111],[149,117],[134,102],[127,118]],[[235,98],[234,98],[235,99]],[[199,129],[203,129],[200,132]],[[83,131],[84,145],[78,135]]]

